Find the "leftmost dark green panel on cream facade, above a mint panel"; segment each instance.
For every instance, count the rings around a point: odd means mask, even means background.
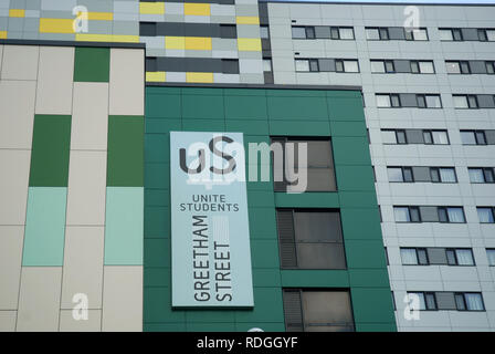
[[[67,187],[70,115],[35,115],[30,187]]]

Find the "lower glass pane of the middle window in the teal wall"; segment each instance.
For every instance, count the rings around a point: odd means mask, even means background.
[[[343,243],[297,243],[301,269],[346,269]]]

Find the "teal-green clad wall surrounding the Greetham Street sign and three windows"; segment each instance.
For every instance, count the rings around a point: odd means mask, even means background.
[[[112,124],[110,117],[110,134]],[[145,331],[285,331],[284,288],[348,289],[357,331],[396,331],[360,92],[150,86],[145,127]],[[272,181],[246,184],[253,309],[171,308],[172,131],[243,133],[245,146],[275,135],[331,138],[337,192],[287,195],[274,192]],[[115,144],[133,150],[127,142]],[[125,170],[129,160],[135,157],[122,155],[112,168]],[[347,269],[281,270],[276,208],[339,209]]]

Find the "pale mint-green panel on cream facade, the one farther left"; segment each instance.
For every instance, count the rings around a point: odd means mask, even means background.
[[[63,266],[66,187],[30,187],[22,266]]]

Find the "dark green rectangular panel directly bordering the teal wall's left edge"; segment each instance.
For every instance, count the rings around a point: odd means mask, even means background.
[[[107,186],[144,186],[143,116],[108,117]]]

